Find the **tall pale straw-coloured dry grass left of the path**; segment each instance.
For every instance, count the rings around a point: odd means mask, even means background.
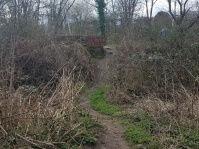
[[[58,122],[57,120],[64,116],[72,119],[75,94],[78,94],[78,91],[72,85],[71,78],[63,76],[53,96],[48,100],[32,95],[24,98],[19,91],[7,98],[1,97],[1,126],[5,130],[23,129],[26,136],[31,131],[39,133],[46,122]]]

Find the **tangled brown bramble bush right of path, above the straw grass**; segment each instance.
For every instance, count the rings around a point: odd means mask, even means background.
[[[139,31],[135,32],[139,35]],[[110,78],[118,93],[114,93],[115,98],[125,93],[132,99],[156,95],[162,100],[173,101],[184,92],[182,86],[193,94],[194,89],[198,90],[197,37],[193,36],[190,41],[193,32],[181,28],[171,29],[167,37],[154,32],[153,40],[148,34],[145,38],[132,36],[117,47],[120,55],[110,65]],[[128,98],[126,102],[129,102]]]

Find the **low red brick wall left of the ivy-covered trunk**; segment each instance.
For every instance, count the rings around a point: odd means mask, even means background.
[[[57,36],[57,41],[80,42],[88,47],[103,48],[104,36]]]

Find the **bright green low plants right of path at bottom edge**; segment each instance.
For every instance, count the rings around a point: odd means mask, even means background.
[[[121,121],[126,126],[125,138],[132,148],[159,149],[163,143],[155,132],[160,130],[161,122],[157,125],[155,120],[147,114],[129,115]]]

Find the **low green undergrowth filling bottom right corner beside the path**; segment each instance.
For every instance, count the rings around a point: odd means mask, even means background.
[[[146,114],[130,115],[122,124],[126,126],[124,135],[132,148],[199,148],[199,132],[195,127],[169,125],[163,118]]]

